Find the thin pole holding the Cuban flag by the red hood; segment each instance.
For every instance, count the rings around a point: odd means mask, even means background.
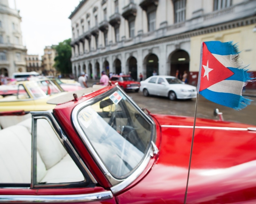
[[[200,83],[201,83],[202,58],[203,58],[203,43],[201,43],[201,50],[200,50],[200,65],[199,65],[198,82],[197,82],[196,108],[195,108],[194,126],[193,126],[193,134],[192,134],[192,141],[191,141],[191,148],[190,148],[190,157],[189,157],[189,163],[188,163],[188,177],[187,177],[187,185],[186,185],[186,191],[185,191],[185,196],[184,196],[184,204],[186,204],[186,201],[187,201],[188,180],[189,180],[189,174],[190,174],[195,127],[196,127],[197,103],[198,103],[198,96],[199,96]]]

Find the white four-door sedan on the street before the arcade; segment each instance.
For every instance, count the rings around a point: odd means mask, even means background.
[[[141,81],[140,91],[144,96],[166,96],[170,100],[196,98],[196,87],[184,84],[174,76],[151,76]]]

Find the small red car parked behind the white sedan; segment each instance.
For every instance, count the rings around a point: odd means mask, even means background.
[[[135,92],[138,92],[140,90],[140,82],[135,82],[129,75],[113,75],[110,80],[112,84],[117,82],[125,91],[134,90]]]

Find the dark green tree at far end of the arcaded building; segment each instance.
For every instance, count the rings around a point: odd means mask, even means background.
[[[71,39],[67,39],[54,47],[58,55],[54,58],[55,64],[53,66],[62,74],[72,73],[72,64],[70,61],[72,48],[70,42]]]

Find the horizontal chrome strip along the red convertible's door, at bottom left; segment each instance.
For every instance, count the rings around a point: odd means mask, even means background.
[[[111,191],[78,195],[0,195],[0,203],[72,203],[92,202],[113,198]]]

